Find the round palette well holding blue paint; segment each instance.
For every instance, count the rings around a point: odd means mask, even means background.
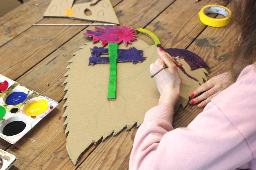
[[[4,102],[8,105],[22,103],[28,97],[26,89],[14,89],[4,96]]]

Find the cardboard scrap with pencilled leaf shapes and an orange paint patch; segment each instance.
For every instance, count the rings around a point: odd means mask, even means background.
[[[95,5],[90,5],[90,2],[73,5],[73,1],[52,0],[45,11],[44,17],[64,17],[119,24],[110,0],[101,0]],[[86,10],[89,10],[92,14],[86,15]]]

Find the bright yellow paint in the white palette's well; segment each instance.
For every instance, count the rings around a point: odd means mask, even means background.
[[[24,113],[28,116],[37,116],[44,113],[48,108],[48,102],[44,99],[28,103]]]

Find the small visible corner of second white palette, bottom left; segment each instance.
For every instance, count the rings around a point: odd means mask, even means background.
[[[13,154],[10,154],[2,149],[0,149],[0,169],[7,170],[9,169],[14,162],[16,157]]]

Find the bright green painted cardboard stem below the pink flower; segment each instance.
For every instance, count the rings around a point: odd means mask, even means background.
[[[116,91],[116,60],[118,58],[117,43],[109,44],[109,89],[108,89],[108,100],[115,100]]]

